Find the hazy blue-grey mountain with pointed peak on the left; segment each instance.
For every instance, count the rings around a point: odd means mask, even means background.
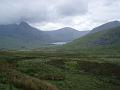
[[[34,48],[50,43],[52,38],[26,22],[0,25],[0,49]]]

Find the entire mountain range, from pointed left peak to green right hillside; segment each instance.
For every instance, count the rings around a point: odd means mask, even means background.
[[[70,42],[69,42],[70,41]],[[32,49],[54,42],[69,42],[63,50],[95,48],[119,48],[120,22],[112,21],[91,31],[78,31],[65,27],[53,31],[42,31],[26,22],[0,25],[0,49]]]

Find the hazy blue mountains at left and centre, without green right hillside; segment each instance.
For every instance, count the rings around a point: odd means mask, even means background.
[[[87,34],[66,27],[55,31],[42,31],[27,22],[0,25],[0,49],[31,49],[54,42],[68,42]]]

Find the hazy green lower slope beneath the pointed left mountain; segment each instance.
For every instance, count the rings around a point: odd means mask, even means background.
[[[0,36],[0,50],[30,50],[48,46],[49,43],[42,41],[24,41],[18,38],[2,37]]]

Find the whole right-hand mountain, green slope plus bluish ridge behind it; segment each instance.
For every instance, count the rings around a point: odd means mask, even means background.
[[[113,24],[115,22],[111,22]],[[63,50],[71,50],[71,51],[81,51],[81,50],[87,50],[88,52],[91,50],[120,50],[120,25],[111,25],[113,27],[110,27],[108,29],[108,24],[101,25],[97,27],[96,29],[93,29],[91,32],[79,39],[74,40],[73,42],[70,42],[66,45],[64,45],[62,48]],[[118,24],[119,22],[117,22]],[[106,25],[106,26],[105,26]],[[103,26],[103,27],[102,27]],[[107,27],[107,29],[105,29]],[[99,28],[99,29],[98,29]],[[104,28],[104,30],[100,30],[100,28]],[[95,30],[98,30],[97,32]]]

